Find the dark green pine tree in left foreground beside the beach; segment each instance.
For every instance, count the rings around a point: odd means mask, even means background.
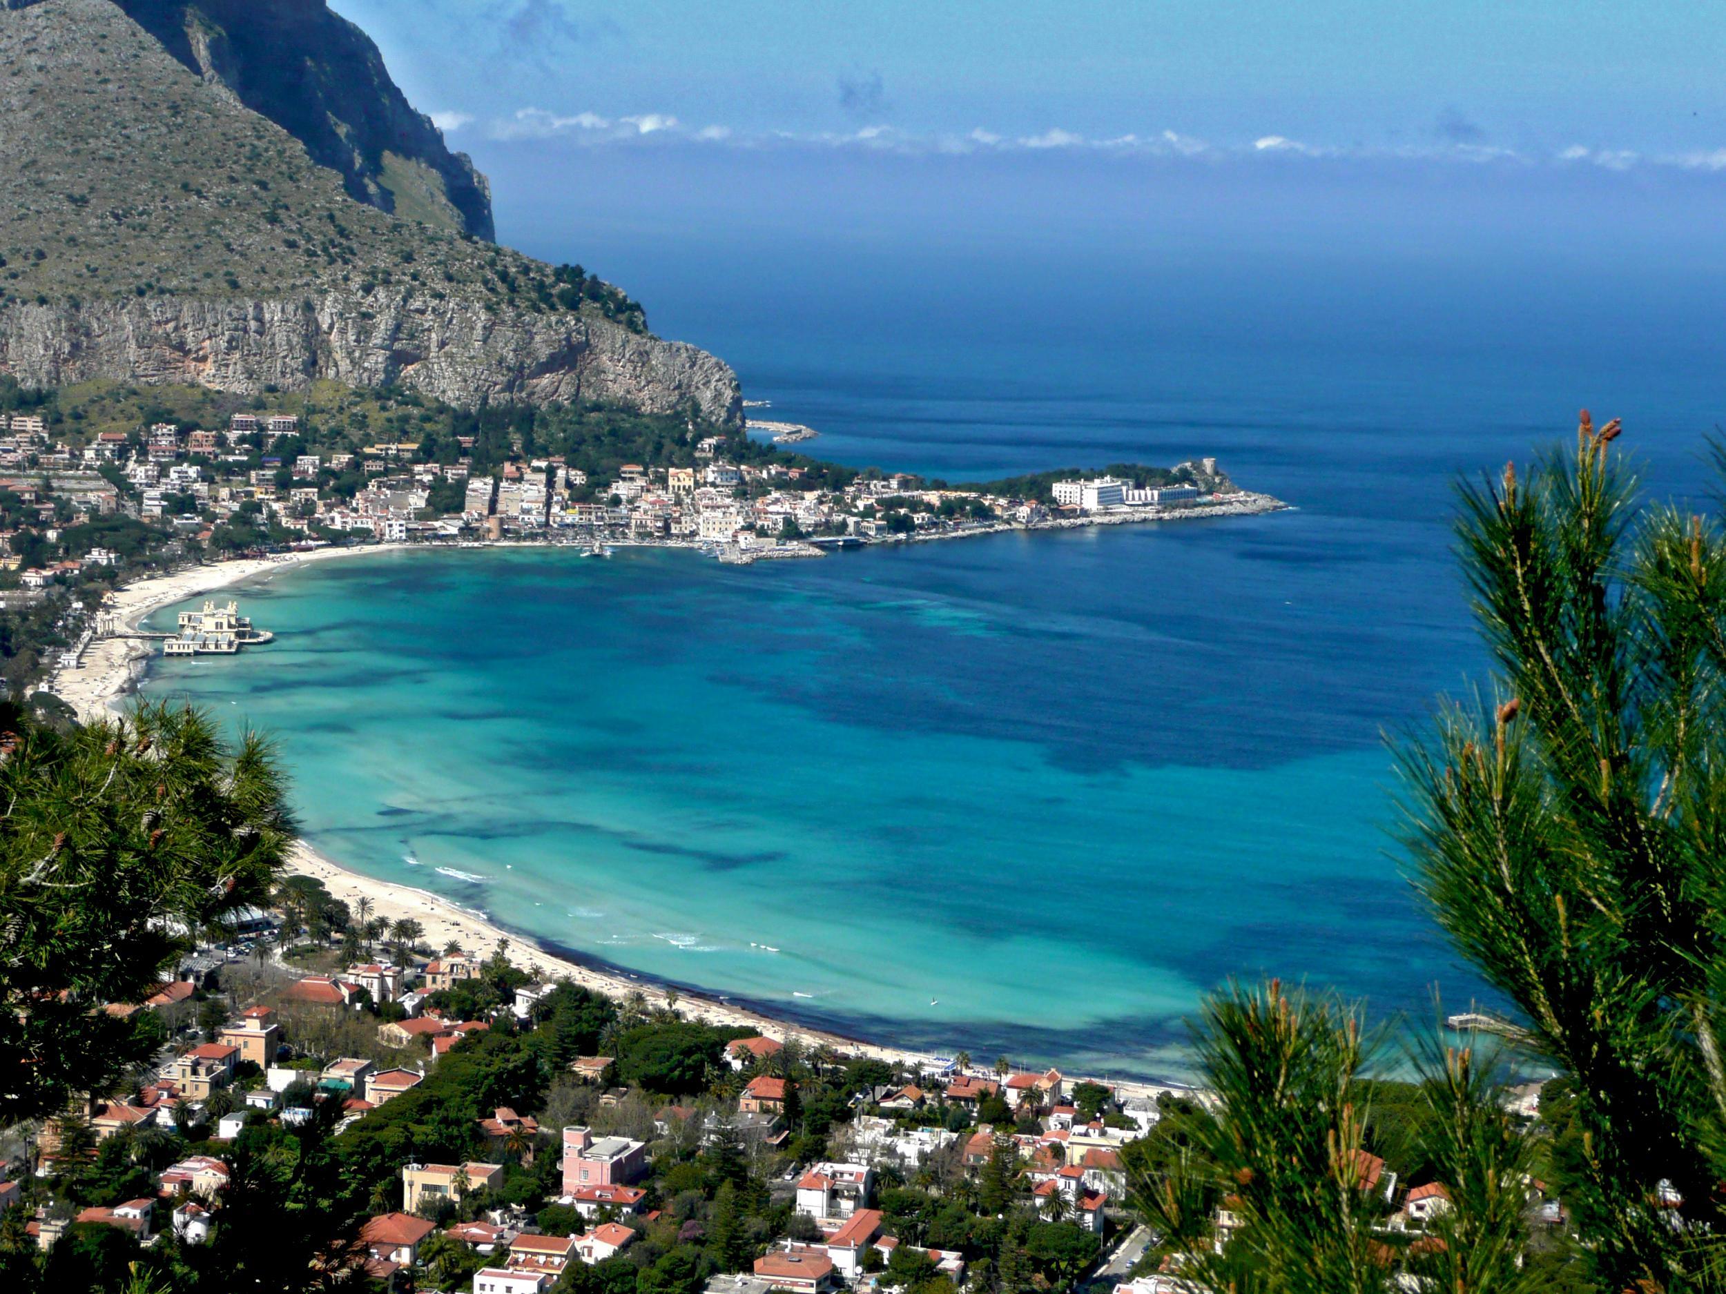
[[[142,1002],[224,913],[268,901],[293,839],[261,737],[230,747],[193,709],[142,706],[67,733],[0,716],[0,1123],[102,1090]]]

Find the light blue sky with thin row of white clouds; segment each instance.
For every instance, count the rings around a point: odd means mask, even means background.
[[[1726,167],[1697,0],[335,0],[452,143],[1458,152]]]

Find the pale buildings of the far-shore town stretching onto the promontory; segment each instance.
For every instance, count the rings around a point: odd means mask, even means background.
[[[777,426],[777,424],[773,424]],[[475,437],[430,457],[426,442],[324,450],[295,414],[236,412],[223,428],[154,423],[74,445],[40,414],[12,414],[0,437],[0,499],[17,499],[17,528],[0,533],[26,588],[107,549],[54,564],[28,561],[24,535],[54,521],[119,514],[204,545],[255,542],[556,540],[682,543],[721,556],[818,554],[822,547],[898,542],[1003,528],[1155,521],[1270,511],[1213,459],[1134,478],[1101,474],[1018,490],[934,485],[906,473],[830,473],[785,457],[734,461],[735,437],[704,435],[687,466],[618,464],[592,474],[566,455],[511,454],[476,464]],[[751,442],[744,442],[751,443]],[[482,469],[485,468],[485,469]],[[10,511],[10,509],[9,509]],[[254,535],[235,535],[250,528]],[[219,533],[221,531],[221,533]],[[52,538],[52,537],[48,537]],[[19,540],[19,542],[14,542]]]

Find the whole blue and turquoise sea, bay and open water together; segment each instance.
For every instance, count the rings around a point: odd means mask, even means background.
[[[1704,495],[1712,278],[1096,264],[1051,309],[984,252],[880,276],[818,243],[773,273],[625,250],[659,331],[818,428],[811,454],[948,480],[1215,455],[1291,507],[242,585],[276,642],[147,690],[271,733],[319,851],[644,982],[1015,1065],[1182,1077],[1231,977],[1414,1025],[1490,1001],[1410,887],[1393,754],[1491,687],[1457,483],[1569,443],[1586,404],[1650,493]]]

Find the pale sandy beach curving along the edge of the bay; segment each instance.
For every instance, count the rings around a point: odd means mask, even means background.
[[[407,545],[314,549],[309,552],[281,554],[274,557],[242,557],[212,562],[209,566],[195,566],[171,575],[138,580],[136,583],[117,590],[105,606],[107,609],[116,611],[128,628],[136,628],[136,625],[157,607],[195,597],[202,592],[235,585],[257,575],[312,561],[385,552],[402,547]],[[152,650],[155,649],[147,640],[97,638],[90,644],[81,664],[55,671],[43,685],[43,690],[54,692],[57,697],[72,706],[78,711],[79,719],[91,721],[110,718],[124,709],[126,699],[131,695],[133,687],[142,675],[143,661]],[[570,961],[568,958],[559,958],[540,947],[532,939],[513,935],[485,920],[482,914],[471,913],[435,894],[418,890],[411,885],[373,880],[371,876],[364,876],[357,871],[349,871],[347,868],[342,868],[328,857],[318,854],[304,842],[295,844],[290,852],[288,870],[299,875],[316,876],[337,899],[347,902],[350,909],[357,899],[364,897],[371,904],[373,916],[383,916],[392,921],[400,918],[413,918],[419,921],[425,928],[425,942],[433,949],[444,949],[447,944],[456,942],[468,952],[490,956],[501,942],[509,940],[511,961],[535,977],[554,980],[568,977],[575,983],[587,985],[589,989],[614,997],[640,992],[647,999],[649,1006],[658,1006],[666,1001],[665,985],[647,978],[637,978],[632,973],[601,971]],[[677,1008],[689,1018],[704,1020],[713,1025],[753,1028],[782,1040],[796,1037],[809,1046],[828,1044],[847,1052],[873,1056],[887,1061],[889,1065],[903,1063],[929,1066],[935,1059],[927,1052],[882,1047],[858,1039],[846,1039],[822,1030],[804,1028],[784,1020],[773,1020],[756,1011],[749,1011],[725,1001],[716,1001],[709,996],[678,992]],[[1122,1084],[1118,1080],[1115,1080],[1115,1087],[1125,1092],[1170,1090],[1160,1085]]]

